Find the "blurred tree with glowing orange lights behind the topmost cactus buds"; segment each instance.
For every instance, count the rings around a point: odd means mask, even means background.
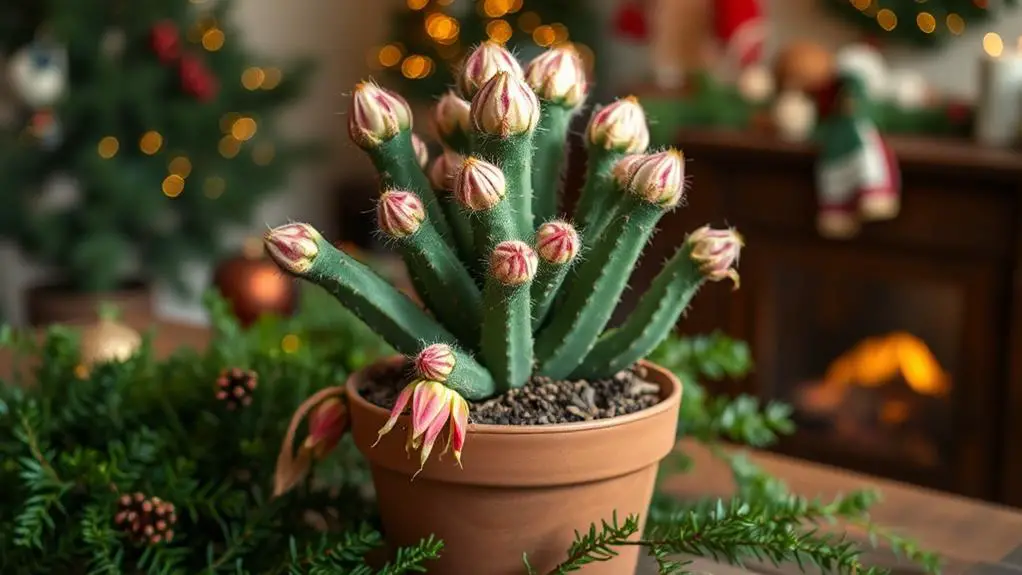
[[[571,42],[590,73],[599,44],[595,10],[585,0],[407,0],[394,16],[393,41],[369,53],[370,67],[386,69],[402,95],[429,100],[454,84],[456,66],[475,44],[507,44],[521,61]]]

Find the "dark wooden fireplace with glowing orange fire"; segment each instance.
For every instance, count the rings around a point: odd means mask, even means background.
[[[784,453],[1022,506],[1022,155],[892,139],[901,212],[833,241],[816,231],[811,147],[726,132],[679,145],[688,205],[622,313],[686,231],[734,225],[742,289],[702,290],[680,329],[748,341],[755,369],[711,389],[790,403]]]

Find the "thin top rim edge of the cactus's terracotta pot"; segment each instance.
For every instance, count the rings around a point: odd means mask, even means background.
[[[384,366],[386,364],[396,364],[399,362],[404,362],[405,357],[403,355],[391,355],[389,357],[379,358],[362,369],[353,372],[349,377],[347,381],[344,383],[344,387],[347,389],[347,397],[350,401],[354,401],[359,404],[360,410],[373,412],[377,416],[387,418],[390,414],[389,411],[380,408],[375,403],[369,402],[365,397],[359,393],[358,386],[356,383],[363,379],[362,374],[366,371],[372,370],[377,367]],[[474,435],[549,435],[549,434],[566,434],[566,433],[579,433],[585,431],[592,431],[594,429],[604,429],[609,427],[617,427],[619,425],[624,425],[635,421],[641,421],[649,418],[656,417],[663,412],[669,411],[675,408],[682,400],[682,381],[681,379],[671,371],[663,368],[653,362],[647,360],[640,360],[639,366],[646,368],[648,370],[654,370],[663,374],[668,381],[670,381],[670,392],[667,393],[665,397],[661,397],[660,400],[650,408],[645,410],[635,412],[632,414],[625,414],[623,416],[614,416],[612,418],[604,418],[593,421],[585,422],[574,422],[574,423],[555,423],[546,425],[497,425],[497,424],[483,424],[483,423],[469,423],[468,431]],[[410,416],[403,415],[402,419],[409,418]]]

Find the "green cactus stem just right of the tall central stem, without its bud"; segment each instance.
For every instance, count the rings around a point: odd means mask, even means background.
[[[540,124],[536,129],[532,156],[532,218],[547,222],[557,217],[558,191],[564,167],[564,146],[574,110],[541,100]]]

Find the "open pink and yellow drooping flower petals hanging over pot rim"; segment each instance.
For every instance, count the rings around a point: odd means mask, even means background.
[[[461,466],[461,453],[468,433],[468,402],[457,391],[438,381],[418,379],[408,384],[398,394],[389,419],[378,432],[376,443],[393,430],[409,405],[412,428],[406,448],[419,449],[419,472],[426,465],[445,427],[448,428],[448,448],[453,450],[455,461]]]

